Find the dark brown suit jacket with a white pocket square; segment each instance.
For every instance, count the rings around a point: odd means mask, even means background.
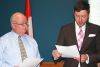
[[[94,34],[95,37],[89,37]],[[75,24],[71,23],[61,28],[58,45],[70,46],[77,45],[77,38],[75,33]],[[67,51],[67,49],[66,49]],[[81,63],[81,67],[97,67],[97,62],[100,61],[100,27],[92,23],[86,23],[86,31],[80,54],[89,55],[89,64]],[[78,61],[73,58],[66,58],[64,67],[78,67]]]

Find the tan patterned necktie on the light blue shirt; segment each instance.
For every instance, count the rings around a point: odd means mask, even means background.
[[[21,58],[23,61],[25,58],[27,58],[27,54],[26,54],[23,42],[21,40],[21,36],[18,36],[18,42],[19,42],[19,48],[20,48],[20,52],[21,52]]]

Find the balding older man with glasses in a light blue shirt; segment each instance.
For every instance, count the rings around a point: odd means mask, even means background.
[[[0,67],[20,67],[26,58],[40,58],[37,42],[25,34],[26,17],[16,12],[10,21],[12,30],[0,38]]]

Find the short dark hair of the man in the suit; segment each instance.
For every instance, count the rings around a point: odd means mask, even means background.
[[[77,1],[77,3],[74,6],[74,12],[79,12],[81,10],[86,10],[88,13],[90,13],[90,5],[84,0]]]

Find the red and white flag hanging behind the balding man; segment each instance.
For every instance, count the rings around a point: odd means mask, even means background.
[[[32,10],[30,0],[26,0],[25,3],[25,16],[27,18],[28,30],[26,34],[33,37],[33,27],[32,27]]]

